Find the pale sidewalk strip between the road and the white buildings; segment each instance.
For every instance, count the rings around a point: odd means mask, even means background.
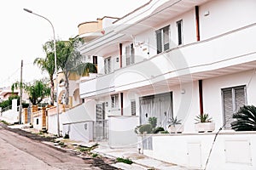
[[[38,130],[29,128],[28,124],[26,125],[14,125],[9,126],[11,128],[20,128],[21,130],[24,130],[26,132],[30,133],[38,133]],[[61,140],[62,141],[62,140]],[[139,154],[136,147],[134,148],[118,148],[113,149],[110,148],[107,142],[91,142],[91,143],[83,143],[83,142],[77,142],[77,141],[71,141],[68,139],[63,140],[65,143],[73,144],[73,145],[81,145],[90,147],[94,144],[99,144],[96,149],[92,150],[91,152],[96,153],[98,155],[108,157],[108,158],[124,158],[129,159],[133,161],[131,165],[123,163],[123,162],[117,162],[114,164],[111,164],[113,167],[117,167],[119,169],[124,170],[189,170],[187,167],[180,167],[172,163],[159,161],[154,158],[144,156],[143,154]]]

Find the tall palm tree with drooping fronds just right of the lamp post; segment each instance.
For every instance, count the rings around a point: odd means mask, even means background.
[[[57,63],[66,79],[65,88],[65,103],[69,102],[69,79],[71,73],[76,73],[79,76],[88,75],[89,72],[96,72],[96,66],[92,63],[83,63],[82,55],[79,53],[79,44],[82,39],[79,37],[69,38],[69,41],[57,41]]]

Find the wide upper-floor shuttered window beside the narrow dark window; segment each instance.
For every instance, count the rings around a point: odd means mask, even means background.
[[[162,53],[170,48],[170,26],[161,28],[156,33],[157,54]]]

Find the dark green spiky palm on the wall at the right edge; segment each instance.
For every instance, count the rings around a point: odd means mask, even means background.
[[[232,129],[236,131],[256,130],[256,107],[254,105],[244,105],[232,117],[236,119],[231,122]]]

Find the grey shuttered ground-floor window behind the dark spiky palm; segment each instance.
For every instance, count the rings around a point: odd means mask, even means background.
[[[236,113],[243,105],[246,105],[246,90],[245,86],[235,88],[223,88],[223,107],[224,107],[224,127],[230,128],[230,123],[233,121],[232,115]]]

